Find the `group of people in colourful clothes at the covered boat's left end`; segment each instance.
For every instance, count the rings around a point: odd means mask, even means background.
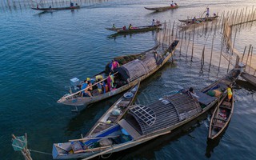
[[[94,78],[86,78],[82,83],[81,87],[81,97],[93,98],[93,95],[105,94],[108,91],[115,90],[114,86],[114,70],[120,65],[114,59],[108,64],[110,72],[108,77],[103,79],[102,75],[97,75]],[[94,91],[95,90],[95,91]],[[93,94],[92,94],[93,93]]]

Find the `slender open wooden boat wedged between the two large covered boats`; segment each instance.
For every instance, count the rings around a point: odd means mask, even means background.
[[[118,101],[115,102],[114,105],[112,105],[101,118],[99,118],[98,122],[96,122],[86,136],[88,137],[92,134],[96,134],[116,124],[124,116],[129,106],[134,102],[134,98],[138,93],[139,84],[140,82],[130,88],[126,94],[123,94],[122,97],[119,98]]]

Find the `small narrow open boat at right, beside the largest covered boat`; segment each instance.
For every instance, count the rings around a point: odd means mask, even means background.
[[[217,138],[219,134],[226,129],[234,110],[234,92],[232,90],[231,102],[228,101],[228,96],[222,99],[220,104],[215,108],[214,114],[210,119],[210,128],[208,138],[214,139]]]

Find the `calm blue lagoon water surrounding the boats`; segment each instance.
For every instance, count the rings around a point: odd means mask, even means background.
[[[178,10],[153,13],[144,6],[166,6],[168,1],[110,1],[85,4],[81,10],[62,10],[39,13],[34,10],[2,10],[0,15],[0,159],[22,159],[10,145],[10,134],[28,134],[29,148],[51,153],[54,142],[79,138],[97,122],[98,118],[120,95],[95,103],[79,113],[70,106],[57,104],[68,90],[70,78],[84,79],[100,72],[111,58],[148,50],[155,45],[154,32],[110,37],[105,30],[116,26],[144,26],[152,18],[160,21],[199,16],[210,6],[213,12],[252,7],[254,0],[178,1]],[[256,27],[241,30],[238,50],[254,46]],[[200,42],[198,38],[198,42]],[[220,50],[216,37],[214,50]],[[210,42],[208,42],[210,48]],[[177,52],[178,53],[178,52]],[[199,74],[200,54],[196,50],[194,62],[176,56],[156,74],[142,82],[136,103],[149,104],[178,90],[194,86],[201,89],[226,74],[226,62],[218,73],[218,65],[210,72]],[[218,56],[214,57],[218,61]],[[255,63],[255,62],[254,62]],[[208,63],[206,63],[208,65]],[[235,110],[226,133],[217,142],[207,142],[208,115],[202,116],[192,127],[182,128],[176,136],[166,135],[122,153],[114,159],[255,159],[255,89],[238,81],[235,88]],[[191,125],[189,125],[191,126]],[[182,133],[182,134],[180,134]],[[52,159],[50,155],[32,153],[34,159]]]

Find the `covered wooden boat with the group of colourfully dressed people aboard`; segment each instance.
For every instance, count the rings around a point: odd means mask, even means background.
[[[138,81],[148,78],[161,68],[167,60],[174,54],[178,46],[178,40],[174,40],[166,50],[155,46],[150,50],[146,50],[141,54],[121,56],[114,58],[120,64],[120,67],[112,68],[112,65],[107,64],[106,69],[102,72],[90,77],[90,82],[93,90],[89,90],[92,97],[82,97],[82,82],[78,78],[70,79],[70,94],[65,94],[58,100],[58,103],[71,106],[84,106],[93,102],[101,101],[105,98],[110,98],[115,94],[119,94],[124,90],[128,90]],[[98,78],[101,80],[98,81]],[[105,93],[99,93],[98,83],[105,82]],[[75,90],[75,89],[78,89]]]

